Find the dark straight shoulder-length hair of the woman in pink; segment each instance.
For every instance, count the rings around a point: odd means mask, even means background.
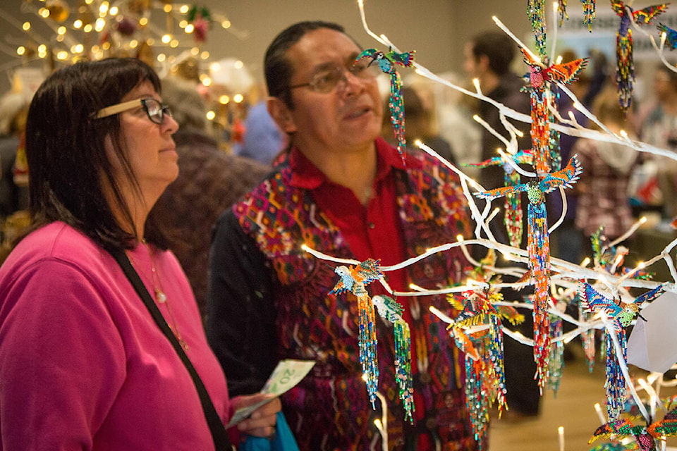
[[[123,150],[118,115],[100,119],[94,115],[120,103],[146,81],[160,92],[160,80],[146,63],[135,58],[107,58],[57,70],[40,85],[26,122],[30,230],[63,221],[105,249],[128,249],[142,238],[135,236],[132,214],[104,144],[109,137],[123,171],[140,195]],[[114,211],[127,227],[116,219]],[[165,247],[150,218],[145,233],[155,245]]]

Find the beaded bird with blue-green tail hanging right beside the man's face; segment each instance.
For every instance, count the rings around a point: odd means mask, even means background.
[[[402,99],[402,80],[396,66],[410,68],[414,63],[415,51],[408,51],[400,54],[390,50],[384,54],[377,49],[367,49],[355,58],[355,63],[362,58],[372,58],[370,65],[374,62],[379,64],[379,68],[390,75],[390,121],[393,124],[393,131],[397,140],[397,152],[405,161],[404,149],[407,141],[404,136],[404,100]]]

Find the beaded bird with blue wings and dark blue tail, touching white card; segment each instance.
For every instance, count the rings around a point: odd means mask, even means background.
[[[611,324],[614,327],[614,332],[618,336],[618,344],[621,346],[623,355],[616,355],[616,348],[611,340],[611,335],[606,333],[606,411],[609,418],[618,419],[618,416],[623,410],[623,402],[626,399],[626,380],[621,373],[621,365],[618,359],[623,359],[627,362],[627,338],[626,327],[630,326],[637,316],[640,316],[640,306],[645,302],[651,302],[664,292],[663,285],[645,292],[645,294],[637,297],[634,302],[623,304],[614,299],[609,299],[601,295],[597,290],[592,288],[592,285],[585,282],[581,284],[579,291],[580,303],[586,311],[592,313],[604,313],[609,316]]]

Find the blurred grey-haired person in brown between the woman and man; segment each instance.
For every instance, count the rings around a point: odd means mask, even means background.
[[[173,135],[179,171],[150,216],[158,216],[168,228],[169,249],[184,268],[204,314],[209,245],[216,218],[255,187],[270,166],[219,149],[209,135],[207,107],[195,82],[166,77],[162,97],[180,126]]]

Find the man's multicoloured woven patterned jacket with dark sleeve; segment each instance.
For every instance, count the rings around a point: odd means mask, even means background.
[[[394,169],[396,199],[407,257],[468,235],[458,178],[435,160]],[[233,395],[260,390],[279,359],[312,359],[311,373],[283,395],[283,409],[301,450],[381,449],[374,411],[362,381],[358,308],[353,295],[329,295],[333,267],[307,245],[334,257],[354,258],[341,232],[310,194],[289,183],[283,162],[217,223],[207,335]],[[378,258],[378,256],[374,256]],[[426,288],[460,280],[461,252],[437,254],[410,266],[412,283]],[[428,307],[450,306],[444,296],[398,298],[410,309],[415,424],[403,421],[394,376],[391,326],[377,320],[379,392],[388,400],[389,446],[396,450],[475,450],[463,395],[464,375],[453,340]],[[462,357],[461,357],[462,358]]]

